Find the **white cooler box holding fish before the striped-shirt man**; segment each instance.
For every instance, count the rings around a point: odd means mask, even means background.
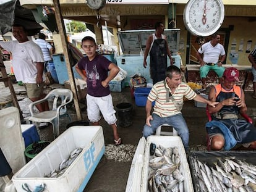
[[[129,177],[126,185],[126,192],[148,191],[148,162],[150,159],[150,144],[155,143],[156,146],[163,146],[164,148],[177,147],[179,149],[179,156],[181,159],[181,170],[184,176],[184,191],[194,192],[192,177],[190,175],[189,164],[187,162],[186,152],[179,136],[148,136],[147,142],[145,138],[140,139],[137,149],[135,151],[134,159],[130,167]],[[142,157],[143,154],[143,157]],[[141,164],[143,167],[141,168]]]

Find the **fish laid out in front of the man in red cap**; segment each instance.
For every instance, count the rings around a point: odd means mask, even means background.
[[[218,157],[213,166],[190,157],[198,191],[251,192],[256,191],[256,166],[234,157]]]

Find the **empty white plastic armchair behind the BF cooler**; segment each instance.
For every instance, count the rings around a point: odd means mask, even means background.
[[[44,111],[36,113],[33,108],[36,104],[49,101],[53,99],[53,108],[50,111]],[[32,102],[29,105],[31,117],[29,118],[32,122],[49,122],[53,125],[53,136],[54,139],[59,136],[59,117],[69,117],[70,122],[72,121],[69,114],[67,114],[67,104],[73,100],[73,93],[68,89],[54,89],[51,90],[43,99]]]

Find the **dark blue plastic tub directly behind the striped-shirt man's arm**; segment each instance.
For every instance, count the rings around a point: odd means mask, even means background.
[[[146,106],[148,94],[150,93],[151,88],[141,87],[135,88],[134,98],[136,106]],[[152,102],[152,106],[155,105],[155,101]]]

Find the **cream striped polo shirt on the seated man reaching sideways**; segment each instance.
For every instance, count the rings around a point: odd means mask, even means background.
[[[166,81],[166,79],[164,80]],[[166,83],[164,86],[164,81],[159,81],[156,83],[148,94],[148,100],[155,101],[153,113],[159,115],[160,117],[169,117],[176,114],[181,114],[181,111],[176,109],[172,99],[166,101],[166,96],[170,96],[171,89]],[[191,100],[194,99],[197,94],[193,91],[189,85],[181,82],[179,86],[175,89],[172,95],[177,104],[183,106],[183,97]]]

